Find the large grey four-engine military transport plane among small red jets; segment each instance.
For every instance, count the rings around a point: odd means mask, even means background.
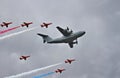
[[[62,37],[52,39],[48,35],[38,33],[37,35],[43,38],[43,43],[68,43],[70,48],[73,48],[73,44],[78,44],[77,38],[82,37],[85,34],[85,31],[73,32],[72,30],[63,29],[59,26],[56,27],[62,34]]]

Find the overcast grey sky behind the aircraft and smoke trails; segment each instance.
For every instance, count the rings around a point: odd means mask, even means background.
[[[42,22],[52,22],[48,28],[38,28],[0,41],[0,78],[64,62],[75,58],[71,65],[63,64],[47,69],[28,78],[66,68],[63,74],[46,78],[120,78],[120,1],[119,0],[0,0],[0,23],[23,21],[39,27]],[[43,44],[36,34],[44,33],[52,38],[62,34],[56,26],[67,26],[76,31],[86,31],[78,39],[78,45]],[[6,28],[2,28],[3,30]],[[1,36],[27,28],[20,28]],[[21,55],[30,55],[20,61]],[[25,77],[27,78],[27,77]]]

